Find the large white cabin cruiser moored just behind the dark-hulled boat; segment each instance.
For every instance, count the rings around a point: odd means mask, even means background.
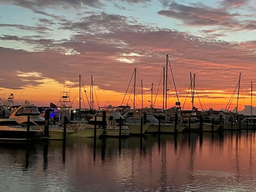
[[[19,124],[26,125],[28,123],[28,116],[30,116],[30,127],[36,130],[44,130],[45,119],[39,116],[37,106],[34,105],[22,105],[12,106],[9,119],[16,120]],[[60,140],[63,139],[64,128],[49,124],[49,139]],[[66,130],[66,136],[74,133],[74,130]]]

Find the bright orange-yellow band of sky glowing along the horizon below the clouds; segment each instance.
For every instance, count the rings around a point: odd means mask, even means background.
[[[70,102],[72,103],[73,108],[79,108],[79,88],[63,88],[63,85],[59,83],[53,83],[48,85],[47,87],[38,86],[35,88],[25,88],[24,90],[9,90],[1,88],[0,98],[2,101],[6,101],[8,96],[13,93],[14,94],[14,105],[15,104],[23,104],[25,100],[30,101],[31,104],[35,104],[36,106],[49,106],[50,102],[57,104],[62,96],[62,92],[70,91]],[[98,106],[119,106],[119,105],[130,105],[134,106],[134,96],[133,94],[119,93],[109,90],[100,90],[98,87],[95,87],[96,92],[93,93],[93,101],[94,108],[98,108]],[[81,90],[81,108],[90,108],[88,102],[91,102],[90,98],[90,89],[86,90],[87,98],[84,93],[84,90]],[[207,94],[207,96],[206,96]],[[169,94],[168,94],[169,95]],[[167,109],[171,108],[178,101],[174,94],[170,94],[167,98]],[[223,93],[215,93],[214,91],[207,91],[205,94],[198,94],[194,97],[194,106],[198,108],[198,110],[208,110],[209,108],[213,108],[214,110],[225,109],[226,107],[229,110],[234,110],[236,108],[237,96],[234,96],[232,100],[232,104],[229,106],[228,102],[231,98],[231,95]],[[152,104],[154,108],[165,108],[165,99],[162,96],[152,95]],[[123,102],[122,102],[123,101]],[[179,102],[181,103],[181,107],[184,110],[192,109],[192,98],[188,95],[180,95]],[[252,102],[254,102],[252,100]],[[142,105],[142,96],[140,94],[136,94],[135,96],[135,108],[148,107],[151,105],[151,94],[143,95],[143,105]],[[202,105],[202,107],[201,107]],[[251,105],[250,95],[241,96],[238,102],[238,110],[243,110],[245,105]],[[254,105],[254,103],[253,103]]]

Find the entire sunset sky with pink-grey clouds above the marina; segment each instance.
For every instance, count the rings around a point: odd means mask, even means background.
[[[255,0],[0,0],[0,98],[49,106],[69,92],[77,108],[80,87],[81,108],[192,109],[194,90],[198,110],[256,106],[255,12]]]

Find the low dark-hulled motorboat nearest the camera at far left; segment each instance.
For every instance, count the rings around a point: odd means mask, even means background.
[[[0,119],[0,140],[1,141],[26,141],[36,135],[40,135],[42,130],[30,128],[19,124],[16,120],[2,118]]]

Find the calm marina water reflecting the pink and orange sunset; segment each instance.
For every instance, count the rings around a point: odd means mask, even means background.
[[[254,132],[0,143],[0,192],[252,192]]]

